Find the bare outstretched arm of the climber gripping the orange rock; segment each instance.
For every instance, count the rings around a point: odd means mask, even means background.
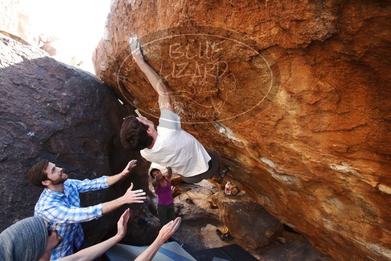
[[[147,76],[150,81],[152,87],[159,94],[159,108],[168,109],[174,112],[174,108],[171,104],[170,100],[170,90],[167,85],[164,83],[163,78],[160,77],[145,61],[143,54],[141,53],[141,44],[138,42],[137,37],[130,38],[130,50],[135,60],[136,64],[140,67],[140,69]]]

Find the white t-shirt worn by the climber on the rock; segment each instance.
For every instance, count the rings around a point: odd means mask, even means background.
[[[155,144],[152,149],[142,150],[141,156],[161,166],[171,167],[185,177],[206,172],[211,160],[201,143],[182,130],[180,117],[167,109],[161,110]]]

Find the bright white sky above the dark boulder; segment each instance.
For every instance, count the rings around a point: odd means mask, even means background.
[[[84,60],[82,68],[93,72],[92,52],[103,36],[110,0],[20,1],[34,29],[60,38],[68,51]]]

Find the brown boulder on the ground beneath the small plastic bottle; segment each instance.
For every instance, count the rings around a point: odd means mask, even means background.
[[[282,223],[247,194],[227,196],[220,191],[212,200],[220,210],[220,220],[235,239],[248,247],[256,249],[282,235]]]

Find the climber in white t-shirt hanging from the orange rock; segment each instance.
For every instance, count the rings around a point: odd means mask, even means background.
[[[217,153],[207,152],[195,137],[181,128],[180,117],[175,114],[168,87],[145,63],[137,38],[130,40],[130,49],[136,64],[159,94],[161,114],[157,129],[153,122],[145,117],[127,117],[121,128],[121,142],[124,147],[140,151],[148,161],[171,167],[182,175],[185,182],[197,183],[213,176],[217,182],[221,182],[227,168],[219,172]]]

